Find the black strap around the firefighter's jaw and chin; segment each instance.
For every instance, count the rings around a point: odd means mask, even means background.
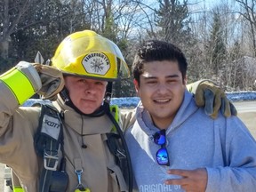
[[[76,108],[76,106],[74,105],[74,103],[69,97],[69,92],[66,87],[64,87],[64,89],[60,92],[60,97],[62,98],[62,100],[64,100],[64,103],[66,105],[68,105],[70,108],[74,108],[74,110],[80,115],[91,116],[91,117],[103,116],[106,110],[109,110],[109,103],[111,100],[111,96],[112,96],[112,82],[108,82],[103,104],[100,106],[100,108],[98,108],[92,114],[84,114],[79,108]]]

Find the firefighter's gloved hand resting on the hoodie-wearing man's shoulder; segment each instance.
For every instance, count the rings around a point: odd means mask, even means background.
[[[195,94],[196,105],[204,107],[208,116],[216,118],[219,110],[224,116],[237,115],[235,106],[228,100],[225,92],[209,81],[198,84]]]

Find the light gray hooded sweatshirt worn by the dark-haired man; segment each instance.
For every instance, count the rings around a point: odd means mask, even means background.
[[[153,140],[159,131],[140,103],[136,122],[125,132],[131,153],[137,188],[141,192],[183,191],[180,186],[165,185],[177,178],[168,169],[206,168],[207,192],[254,191],[256,188],[256,142],[236,116],[217,119],[197,108],[193,95],[185,92],[180,109],[166,130],[170,166],[156,163],[160,146]]]

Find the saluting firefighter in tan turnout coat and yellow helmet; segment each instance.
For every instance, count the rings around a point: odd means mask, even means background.
[[[131,172],[127,180],[127,169],[118,166],[131,168],[129,154],[110,134],[118,124],[104,99],[117,72],[129,73],[122,53],[107,38],[84,30],[60,43],[51,66],[20,62],[0,76],[0,162],[17,175],[13,190],[132,191]],[[35,92],[53,100],[61,120],[52,111],[20,107]]]

